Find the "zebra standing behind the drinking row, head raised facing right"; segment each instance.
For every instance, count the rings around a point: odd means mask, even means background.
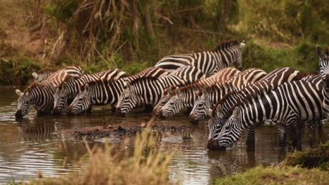
[[[172,72],[179,67],[192,65],[200,69],[206,76],[211,76],[220,69],[229,67],[230,64],[234,64],[236,68],[241,69],[241,49],[243,46],[245,46],[244,41],[238,43],[236,40],[229,40],[220,43],[213,51],[163,57],[157,62],[157,64],[155,64],[155,67],[161,67]]]

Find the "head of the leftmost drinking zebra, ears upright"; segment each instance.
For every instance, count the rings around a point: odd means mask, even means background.
[[[20,90],[16,89],[15,90],[16,94],[19,96],[18,97],[18,106],[17,106],[17,111],[15,114],[16,118],[22,118],[26,114],[30,112],[30,104],[32,104],[32,90],[27,90],[26,92],[22,93]]]

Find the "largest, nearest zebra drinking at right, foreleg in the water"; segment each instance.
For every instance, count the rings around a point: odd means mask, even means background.
[[[323,81],[315,76],[302,81],[290,81],[263,97],[243,100],[232,111],[217,137],[209,139],[208,149],[225,150],[240,139],[245,128],[254,128],[260,121],[271,119],[287,128],[292,146],[301,149],[301,129],[304,122],[323,117]]]

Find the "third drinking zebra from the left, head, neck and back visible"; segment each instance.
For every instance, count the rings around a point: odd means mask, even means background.
[[[110,69],[97,75],[100,78],[81,86],[79,93],[67,107],[67,114],[77,115],[89,112],[93,105],[110,104],[115,108],[124,90],[124,79],[128,77],[128,74],[120,69]]]

